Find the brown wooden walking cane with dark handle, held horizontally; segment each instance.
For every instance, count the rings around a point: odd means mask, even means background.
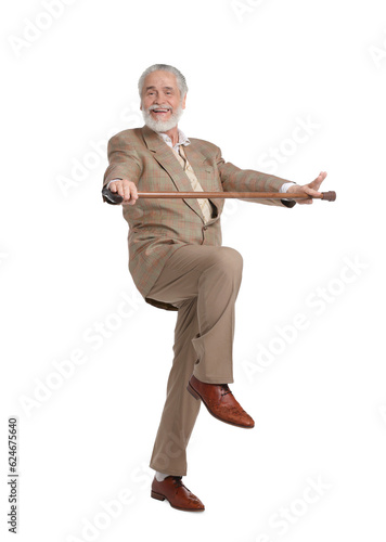
[[[290,195],[290,194],[288,194]],[[112,192],[105,188],[102,190],[103,201],[112,205],[119,205],[124,198],[116,192]],[[282,192],[139,192],[138,196],[145,198],[239,198],[239,199],[283,199],[285,193]],[[299,192],[291,193],[291,199],[323,199],[326,202],[335,202],[336,192],[321,192],[320,196],[305,196]]]

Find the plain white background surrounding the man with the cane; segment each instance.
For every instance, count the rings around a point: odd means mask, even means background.
[[[2,11],[1,535],[16,415],[20,541],[385,540],[384,1]],[[106,141],[142,126],[137,81],[157,62],[188,79],[188,136],[242,168],[279,149],[267,172],[326,170],[337,192],[293,209],[226,204],[223,244],[244,258],[232,389],[256,427],[202,409],[184,479],[198,515],[150,498],[176,313],[141,299],[121,209],[100,193]],[[294,142],[299,119],[313,128]]]

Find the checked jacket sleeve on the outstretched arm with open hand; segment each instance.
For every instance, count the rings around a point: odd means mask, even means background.
[[[217,147],[217,167],[220,173],[222,190],[224,192],[279,192],[286,182],[273,175],[261,173],[253,169],[240,169],[230,162],[226,162],[221,156],[220,149]],[[285,193],[283,193],[285,197]],[[294,207],[295,201],[286,199],[249,199],[243,202],[260,203],[265,205],[279,205],[281,207]]]

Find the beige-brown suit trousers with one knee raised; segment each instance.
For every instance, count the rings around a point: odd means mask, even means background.
[[[186,447],[201,401],[186,390],[192,376],[209,384],[233,382],[234,304],[243,259],[227,246],[186,245],[167,260],[147,296],[179,307],[173,362],[150,466],[186,474]]]

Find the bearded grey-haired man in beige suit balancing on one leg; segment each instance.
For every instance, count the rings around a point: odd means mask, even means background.
[[[204,504],[182,482],[186,446],[201,402],[217,420],[254,427],[229,388],[233,382],[234,305],[243,259],[221,246],[223,199],[138,198],[143,192],[283,192],[259,203],[291,208],[291,192],[318,196],[326,173],[303,186],[227,163],[218,146],[188,139],[178,128],[188,86],[173,66],[155,64],[139,80],[145,126],[108,142],[103,186],[123,196],[129,224],[129,270],[144,299],[176,310],[173,361],[150,466],[151,495],[183,511]],[[311,204],[312,199],[298,199]]]

